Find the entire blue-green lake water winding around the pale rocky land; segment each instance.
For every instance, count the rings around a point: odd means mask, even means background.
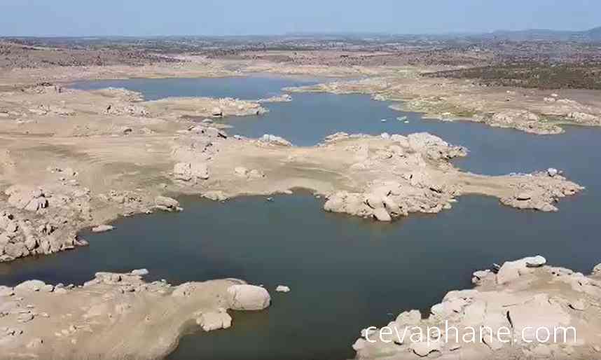
[[[225,86],[220,81],[229,88],[220,88]],[[299,83],[304,81],[148,80],[148,92],[144,80],[78,86],[122,86],[147,98],[256,99]],[[240,277],[270,289],[272,306],[234,312],[234,326],[227,331],[187,335],[170,359],[346,359],[354,355],[350,346],[361,328],[387,324],[403,310],[427,310],[447,291],[471,286],[471,272],[492,263],[542,254],[553,264],[589,272],[601,261],[600,129],[570,127],[566,134],[541,137],[421,120],[418,113],[404,113],[405,124],[394,120],[403,113],[388,105],[364,95],[293,94],[293,102],[266,104],[270,113],[265,116],[224,121],[234,125],[232,134],[268,132],[301,145],[336,131],[427,131],[471,150],[455,162],[463,169],[504,174],[553,166],[588,188],[562,200],[560,212],[553,214],[467,196],[450,211],[392,224],[325,213],[323,200],[306,193],[277,196],[274,202],[184,198],[182,213],[134,216],[116,221],[110,233],[83,234],[88,248],[0,265],[0,284],[32,278],[81,283],[98,270],[133,268],[148,268],[150,279],[173,284]],[[278,284],[292,291],[275,293]]]

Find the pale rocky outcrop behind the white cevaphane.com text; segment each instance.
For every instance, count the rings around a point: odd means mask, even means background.
[[[426,317],[402,312],[385,327],[362,331],[353,345],[357,359],[598,356],[598,275],[586,277],[532,256],[508,261],[496,274],[474,272],[473,282],[476,289],[450,291]]]

